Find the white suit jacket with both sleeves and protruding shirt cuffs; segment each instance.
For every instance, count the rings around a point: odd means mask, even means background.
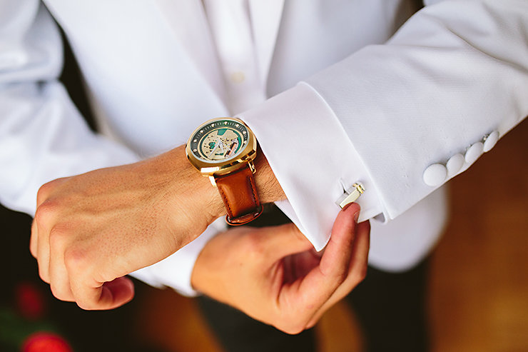
[[[370,262],[409,268],[441,233],[440,187],[528,114],[528,1],[425,2],[412,16],[406,0],[248,0],[264,99],[233,111],[198,0],[0,0],[0,201],[32,214],[46,181],[158,154],[238,114],[315,248],[343,188],[362,181],[361,219],[381,220]],[[57,81],[50,14],[101,134]],[[193,263],[220,227],[136,276],[193,293]]]

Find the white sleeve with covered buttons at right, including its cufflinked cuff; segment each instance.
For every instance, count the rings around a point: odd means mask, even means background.
[[[427,2],[386,44],[240,114],[315,248],[342,185],[365,185],[361,219],[397,218],[528,114],[528,1]]]

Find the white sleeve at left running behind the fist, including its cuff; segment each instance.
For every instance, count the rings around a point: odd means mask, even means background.
[[[33,216],[42,184],[140,158],[88,129],[57,80],[61,36],[44,6],[0,0],[0,9],[0,202]],[[219,228],[209,226],[198,240],[133,276],[195,295],[194,262]]]

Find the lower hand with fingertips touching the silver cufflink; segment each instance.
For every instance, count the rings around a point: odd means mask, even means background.
[[[322,256],[293,224],[234,228],[198,256],[194,288],[286,333],[315,325],[367,272],[370,223],[356,203],[335,219]]]

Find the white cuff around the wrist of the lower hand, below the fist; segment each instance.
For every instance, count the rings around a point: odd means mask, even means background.
[[[188,243],[171,256],[151,266],[141,268],[130,274],[133,278],[161,288],[173,288],[183,296],[194,297],[200,293],[191,285],[194,264],[205,244],[220,231],[225,231],[223,218],[216,219],[194,241]]]

